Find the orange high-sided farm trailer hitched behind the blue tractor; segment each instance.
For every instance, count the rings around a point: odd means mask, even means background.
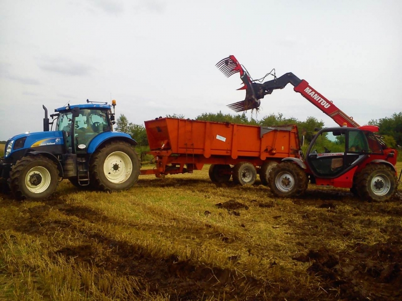
[[[155,167],[141,175],[192,173],[211,164],[213,182],[252,185],[259,173],[267,185],[271,168],[283,158],[299,158],[296,125],[255,126],[178,118],[145,121]],[[231,167],[233,166],[233,167]]]

